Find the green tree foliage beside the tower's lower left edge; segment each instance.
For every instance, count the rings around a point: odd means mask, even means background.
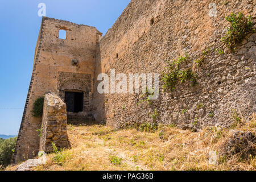
[[[13,158],[17,137],[0,139],[0,166],[8,166]]]

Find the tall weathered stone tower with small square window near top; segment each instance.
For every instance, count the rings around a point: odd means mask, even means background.
[[[59,38],[60,31],[66,32],[66,38]],[[15,163],[38,154],[36,130],[40,129],[42,119],[31,113],[38,97],[47,92],[59,95],[67,104],[69,122],[93,119],[94,61],[101,36],[95,27],[43,17],[15,148]]]

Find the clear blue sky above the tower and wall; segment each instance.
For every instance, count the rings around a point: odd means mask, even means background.
[[[130,0],[8,0],[0,2],[0,134],[18,135],[42,17],[97,27],[103,34]]]

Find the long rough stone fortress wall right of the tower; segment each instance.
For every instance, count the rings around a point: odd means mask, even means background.
[[[177,60],[185,53],[191,60],[197,60],[203,51],[208,53],[201,67],[191,65],[197,74],[196,86],[191,87],[189,82],[178,84],[172,93],[160,89],[158,100],[152,104],[144,102],[142,94],[100,96],[94,92],[96,112],[104,109],[98,119],[107,125],[123,127],[152,122],[151,115],[156,111],[157,122],[195,130],[209,125],[232,125],[233,109],[250,119],[255,112],[256,34],[248,35],[234,53],[229,52],[221,38],[229,26],[225,16],[241,11],[255,17],[255,6],[255,1],[247,0],[228,4],[132,0],[100,41],[96,76],[101,72],[110,75],[110,69],[115,69],[115,74],[161,75],[167,66],[165,60]],[[99,82],[95,82],[94,89]]]

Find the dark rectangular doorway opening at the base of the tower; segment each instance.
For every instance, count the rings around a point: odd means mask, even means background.
[[[83,110],[84,93],[82,92],[65,92],[65,103],[67,112],[79,113]]]

